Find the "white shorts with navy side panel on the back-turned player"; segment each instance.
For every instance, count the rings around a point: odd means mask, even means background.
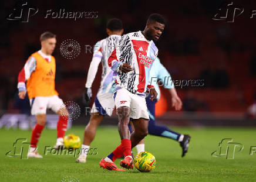
[[[111,93],[97,94],[92,105],[91,113],[99,112],[103,116],[111,116],[114,110],[114,100]]]

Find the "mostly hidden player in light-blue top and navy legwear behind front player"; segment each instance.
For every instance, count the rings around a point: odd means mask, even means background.
[[[154,61],[150,70],[150,83],[151,85],[154,86],[154,88],[156,88],[156,91],[159,94],[157,95],[157,99],[154,101],[151,101],[150,97],[146,97],[147,109],[149,112],[149,128],[148,128],[149,134],[170,138],[170,139],[176,140],[177,142],[180,142],[180,146],[182,148],[181,157],[184,157],[184,155],[187,153],[187,150],[188,150],[188,143],[190,142],[190,136],[171,131],[166,126],[156,125],[155,105],[160,98],[159,85],[163,85],[164,88],[167,88],[169,90],[171,95],[171,106],[174,107],[176,111],[180,110],[182,107],[182,102],[177,95],[176,89],[174,88],[173,81],[171,80],[171,75],[163,66],[163,64],[161,64],[158,57]],[[129,126],[129,129],[130,131],[132,131],[131,126]],[[136,148],[137,148],[137,153],[144,152],[145,150],[144,140],[142,140],[136,146]]]

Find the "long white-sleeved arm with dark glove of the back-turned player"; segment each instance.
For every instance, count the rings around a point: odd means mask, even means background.
[[[89,102],[92,98],[92,83],[95,80],[97,70],[102,60],[102,47],[100,46],[100,41],[95,44],[93,50],[92,61],[90,62],[90,67],[87,74],[87,80],[85,84],[85,100]]]

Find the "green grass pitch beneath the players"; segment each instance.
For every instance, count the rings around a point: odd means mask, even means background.
[[[66,134],[73,133],[83,138],[84,126],[74,126]],[[250,147],[256,146],[256,128],[172,128],[174,131],[191,135],[190,148],[181,158],[178,142],[167,138],[147,136],[146,151],[156,157],[156,169],[150,173],[108,171],[99,167],[102,157],[119,145],[120,139],[114,126],[100,126],[91,147],[97,148],[96,155],[89,155],[86,163],[75,163],[72,155],[43,155],[44,146],[53,146],[56,131],[45,129],[39,141],[39,153],[43,159],[20,159],[8,157],[18,138],[30,140],[31,131],[0,129],[0,177],[4,181],[256,181],[256,154]],[[221,139],[232,138],[244,146],[235,150],[234,159],[213,157]],[[256,149],[256,147],[255,147]],[[133,150],[136,152],[136,149]],[[120,160],[116,161],[119,166]],[[71,178],[72,180],[65,180]]]

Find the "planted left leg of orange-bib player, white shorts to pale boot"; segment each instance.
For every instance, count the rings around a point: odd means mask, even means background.
[[[30,100],[31,102],[31,114],[36,115],[36,125],[33,128],[31,135],[31,145],[29,147],[28,157],[42,158],[37,152],[39,138],[45,127],[46,123],[46,105],[47,98],[36,97]]]

